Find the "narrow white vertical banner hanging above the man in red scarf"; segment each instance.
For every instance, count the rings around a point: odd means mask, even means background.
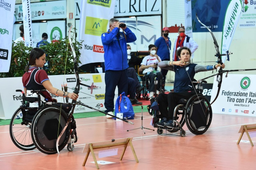
[[[186,31],[186,35],[193,38],[193,35],[192,35],[191,0],[184,0],[184,7],[185,7],[185,31]]]

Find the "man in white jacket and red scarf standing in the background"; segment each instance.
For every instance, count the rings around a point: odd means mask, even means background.
[[[180,27],[178,29],[178,34],[179,36],[176,38],[174,42],[174,49],[173,49],[173,61],[179,61],[180,59],[176,56],[176,51],[180,49],[181,47],[188,47],[191,51],[192,58],[193,58],[193,53],[196,51],[198,48],[198,44],[189,36],[185,34],[185,29],[183,27]]]

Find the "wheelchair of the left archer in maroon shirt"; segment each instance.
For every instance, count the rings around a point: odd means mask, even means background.
[[[16,91],[22,92],[22,105],[15,111],[10,122],[12,142],[22,150],[37,148],[45,154],[57,153],[57,138],[68,121],[68,113],[74,110],[72,108],[76,104],[47,105],[45,102],[41,104],[39,94],[38,97],[25,97],[22,90]],[[39,107],[34,107],[36,102]],[[68,144],[67,149],[72,151],[74,142],[77,142],[76,122],[72,115],[70,123],[58,142],[58,150],[62,150]]]

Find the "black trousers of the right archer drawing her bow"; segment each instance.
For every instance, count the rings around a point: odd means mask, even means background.
[[[185,91],[182,93],[170,92],[169,94],[160,93],[158,95],[158,104],[161,118],[165,117],[167,120],[173,119],[173,112],[178,105],[180,99],[189,99],[195,91]]]

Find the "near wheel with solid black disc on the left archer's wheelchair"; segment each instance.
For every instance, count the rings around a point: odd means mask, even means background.
[[[57,106],[46,106],[40,109],[31,126],[32,140],[41,152],[45,154],[56,154],[56,141],[62,129],[67,122],[66,113]],[[70,123],[59,141],[59,151],[61,151],[66,144],[70,136]]]

